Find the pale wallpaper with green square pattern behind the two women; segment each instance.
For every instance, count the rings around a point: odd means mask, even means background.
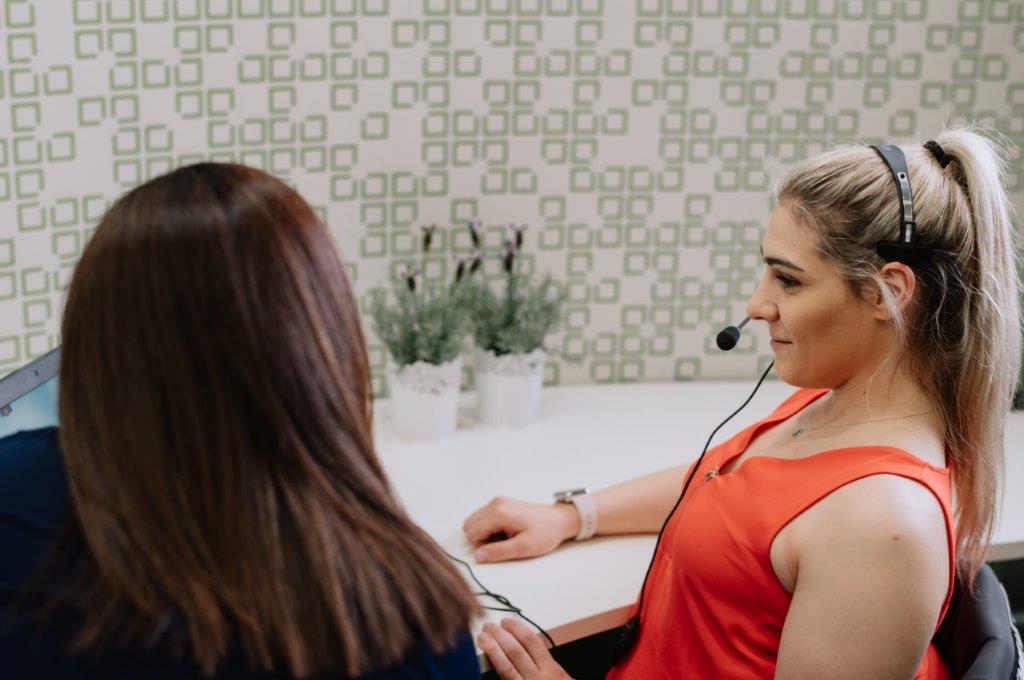
[[[750,377],[767,338],[714,337],[769,162],[959,115],[1024,143],[1020,0],[3,0],[0,43],[0,374],[58,342],[110,202],[215,159],[297,186],[360,295],[420,224],[530,224],[567,286],[549,382]]]

